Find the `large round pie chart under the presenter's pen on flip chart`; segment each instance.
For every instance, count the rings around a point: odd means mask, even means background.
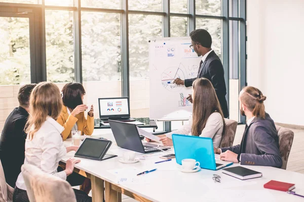
[[[173,83],[174,79],[180,78],[181,80],[186,79],[186,72],[182,65],[179,67],[169,67],[162,73],[162,85],[169,91],[179,91],[182,89],[182,85],[176,85]]]

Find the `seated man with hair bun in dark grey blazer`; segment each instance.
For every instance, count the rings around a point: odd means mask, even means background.
[[[215,149],[221,160],[281,168],[279,136],[274,121],[265,113],[265,99],[261,91],[252,86],[241,91],[240,110],[247,118],[243,138],[236,146]]]

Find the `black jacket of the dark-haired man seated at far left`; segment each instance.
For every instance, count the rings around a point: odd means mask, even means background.
[[[6,182],[15,187],[24,163],[26,133],[24,127],[28,113],[22,107],[15,108],[8,116],[0,138],[0,159]]]

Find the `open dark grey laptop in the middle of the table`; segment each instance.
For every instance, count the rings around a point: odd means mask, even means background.
[[[167,150],[167,147],[151,143],[142,143],[135,124],[109,120],[109,124],[118,146],[140,153],[153,153]],[[159,149],[160,148],[160,149]]]

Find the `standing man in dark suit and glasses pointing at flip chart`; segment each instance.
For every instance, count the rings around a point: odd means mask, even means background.
[[[229,117],[227,100],[226,100],[226,84],[224,79],[224,68],[218,56],[211,49],[212,39],[209,32],[205,29],[197,29],[190,33],[191,45],[199,57],[202,56],[202,61],[199,66],[198,76],[192,79],[181,80],[179,78],[174,80],[177,85],[192,86],[193,81],[197,78],[206,78],[211,81],[219,104],[223,111],[225,118]],[[192,96],[189,95],[187,99],[192,102]]]

